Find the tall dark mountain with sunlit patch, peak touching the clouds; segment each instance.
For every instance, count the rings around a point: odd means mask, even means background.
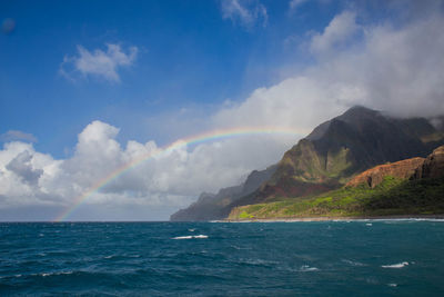
[[[301,139],[284,154],[271,179],[233,207],[340,188],[373,166],[425,157],[443,139],[424,118],[400,119],[353,107]]]

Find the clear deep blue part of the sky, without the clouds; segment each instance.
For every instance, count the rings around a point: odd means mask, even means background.
[[[344,6],[304,3],[292,13],[286,1],[264,4],[266,23],[244,23],[223,19],[221,1],[2,1],[0,18],[16,21],[0,38],[2,132],[32,133],[38,149],[58,157],[94,119],[124,129],[122,140],[173,140],[179,135],[158,133],[147,120],[182,108],[214,112],[276,82],[280,67],[305,63],[285,44],[289,36],[304,39]],[[60,75],[78,46],[104,51],[107,43],[138,48],[132,65],[118,69],[120,82]]]

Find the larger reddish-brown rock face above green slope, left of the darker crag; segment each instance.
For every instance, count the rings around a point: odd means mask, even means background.
[[[422,167],[424,160],[424,158],[412,158],[393,164],[380,165],[357,175],[345,186],[356,187],[364,184],[371,188],[374,188],[380,185],[386,176],[408,179],[416,174],[418,168]]]

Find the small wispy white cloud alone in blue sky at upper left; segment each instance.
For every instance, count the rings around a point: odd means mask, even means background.
[[[139,51],[137,47],[130,47],[128,52],[124,52],[119,44],[112,43],[107,44],[107,51],[101,49],[89,51],[82,46],[77,46],[77,56],[63,58],[60,67],[62,76],[70,80],[75,80],[77,75],[93,76],[112,82],[120,81],[118,70],[131,66]]]

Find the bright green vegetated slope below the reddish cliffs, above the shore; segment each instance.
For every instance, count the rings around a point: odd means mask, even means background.
[[[229,219],[365,217],[444,214],[444,178],[403,180],[386,176],[375,188],[344,187],[315,197],[234,208]]]

